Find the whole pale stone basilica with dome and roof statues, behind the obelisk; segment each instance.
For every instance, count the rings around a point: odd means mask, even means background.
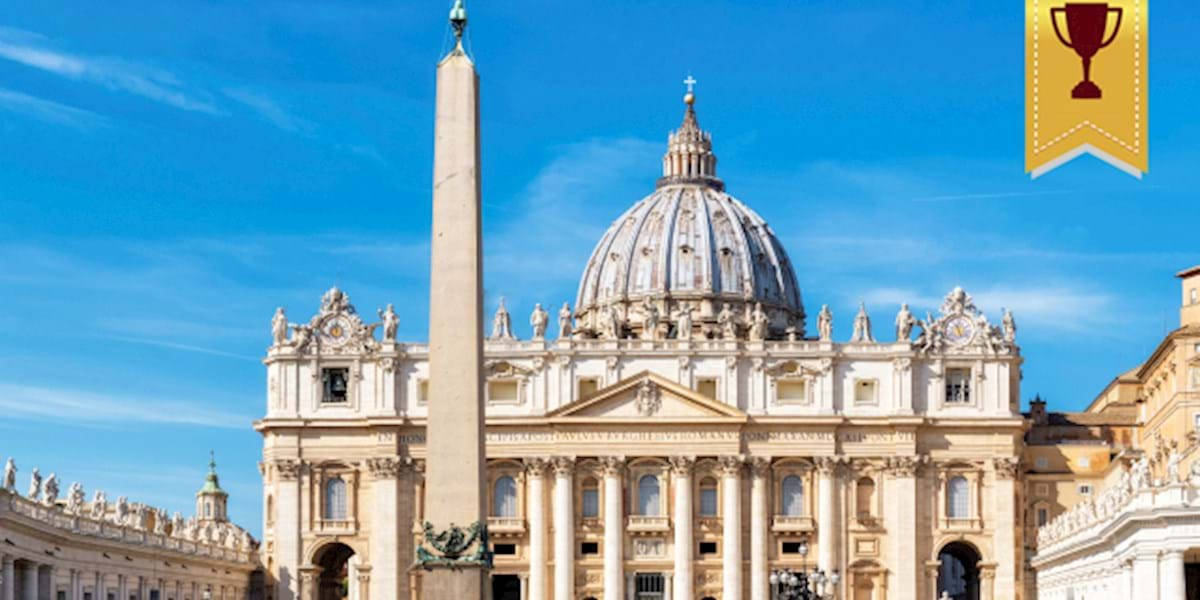
[[[529,307],[521,335],[493,317],[494,598],[767,600],[780,569],[844,600],[1026,594],[1012,314],[955,288],[882,328],[860,307],[851,340],[822,307],[810,332],[691,94],[661,169],[580,265],[574,307]],[[276,312],[264,361],[268,595],[415,599],[428,347],[337,288],[314,308]]]

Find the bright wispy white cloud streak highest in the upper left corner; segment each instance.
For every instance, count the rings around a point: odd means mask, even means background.
[[[185,85],[168,71],[110,56],[70,54],[49,48],[44,37],[34,34],[0,29],[0,58],[68,79],[134,94],[179,109],[221,113],[209,94]]]

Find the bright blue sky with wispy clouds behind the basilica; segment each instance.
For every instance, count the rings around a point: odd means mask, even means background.
[[[275,306],[330,284],[426,336],[449,1],[0,5],[0,455],[190,514],[210,448],[259,530]],[[445,6],[443,6],[445,5]],[[1022,395],[1079,409],[1200,263],[1200,18],[1151,16],[1151,172],[1022,173],[1020,2],[469,4],[488,302],[574,300],[648,193],[680,80],[810,313],[876,334],[962,284],[1013,308]],[[517,323],[524,323],[518,317]],[[521,328],[522,330],[526,328]],[[528,335],[527,331],[522,331]]]

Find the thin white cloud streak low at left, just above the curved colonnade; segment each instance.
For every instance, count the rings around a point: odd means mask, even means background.
[[[248,415],[186,402],[13,384],[0,384],[0,409],[8,419],[97,427],[186,425],[244,430],[252,420]]]

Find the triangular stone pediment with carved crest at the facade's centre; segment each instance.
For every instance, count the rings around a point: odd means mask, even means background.
[[[745,420],[746,414],[665,377],[642,371],[548,415],[563,420]]]

